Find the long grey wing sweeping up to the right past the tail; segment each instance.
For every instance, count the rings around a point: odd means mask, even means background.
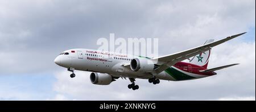
[[[227,38],[218,40],[216,42],[212,42],[212,43],[208,43],[208,44],[204,44],[204,45],[200,45],[199,47],[195,47],[195,48],[191,48],[185,51],[181,51],[181,52],[177,52],[171,55],[167,55],[167,56],[161,56],[161,57],[156,57],[152,60],[155,60],[156,63],[158,65],[160,65],[159,68],[155,69],[155,73],[158,74],[160,72],[162,72],[163,70],[167,69],[168,67],[174,65],[175,63],[179,62],[179,61],[183,61],[185,59],[189,59],[189,57],[192,56],[196,56],[202,52],[208,51],[209,49],[211,49],[212,47],[222,44],[228,40],[234,39],[237,36],[243,35],[246,32],[243,32],[242,34],[237,34],[237,35],[233,35],[233,36],[229,36]]]

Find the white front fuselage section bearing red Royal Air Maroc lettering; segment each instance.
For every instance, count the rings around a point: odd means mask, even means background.
[[[122,55],[112,52],[97,51],[92,49],[69,49],[56,57],[55,63],[65,68],[75,68],[90,72],[108,73],[117,77],[152,78],[152,74],[134,72],[124,64],[129,64],[131,59],[144,58],[139,56]],[[162,80],[175,80],[166,72],[155,75]]]

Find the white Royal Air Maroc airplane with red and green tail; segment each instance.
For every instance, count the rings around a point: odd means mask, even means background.
[[[184,81],[209,77],[217,74],[216,70],[232,67],[237,64],[224,65],[208,69],[209,56],[212,47],[234,39],[241,34],[218,40],[207,40],[199,47],[160,57],[144,57],[123,55],[114,52],[93,49],[68,49],[60,53],[54,60],[55,64],[67,68],[72,72],[70,77],[76,76],[75,70],[89,71],[92,84],[109,85],[118,78],[129,78],[129,89],[137,90],[135,78],[146,79],[152,84],[159,84],[160,80]],[[184,60],[189,62],[184,62]]]

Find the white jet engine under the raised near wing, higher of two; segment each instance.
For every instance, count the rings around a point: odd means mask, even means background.
[[[151,60],[138,58],[131,60],[130,67],[135,72],[150,72],[155,69],[155,65]]]

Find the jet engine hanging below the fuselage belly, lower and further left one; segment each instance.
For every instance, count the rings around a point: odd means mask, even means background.
[[[107,73],[92,72],[90,73],[90,81],[92,84],[109,85],[113,81],[113,78]]]

